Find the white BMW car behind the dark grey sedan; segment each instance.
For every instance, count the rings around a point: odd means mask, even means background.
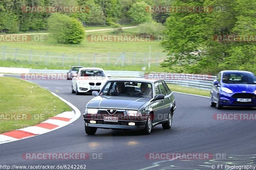
[[[77,75],[73,75],[72,78],[72,93],[79,95],[80,93],[92,93],[92,91],[99,92],[108,81],[108,77],[111,76],[101,68],[80,68]]]

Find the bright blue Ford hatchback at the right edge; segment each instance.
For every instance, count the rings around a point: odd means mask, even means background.
[[[256,78],[252,72],[220,71],[211,90],[211,107],[256,107]]]

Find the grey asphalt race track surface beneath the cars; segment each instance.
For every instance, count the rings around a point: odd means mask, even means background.
[[[19,77],[16,75],[15,77]],[[91,95],[71,93],[70,80],[34,80],[75,105],[81,114]],[[212,169],[212,165],[256,164],[255,120],[214,120],[215,113],[256,113],[256,108],[209,106],[209,98],[175,93],[177,111],[171,129],[161,125],[150,135],[138,130],[98,129],[88,136],[81,117],[52,132],[0,145],[1,165],[86,165],[86,169]],[[86,160],[26,160],[22,153],[89,153]],[[92,154],[102,159],[92,159]],[[220,153],[226,159],[148,160],[147,153]],[[237,156],[239,155],[239,156]],[[251,156],[247,156],[251,155]],[[215,167],[217,169],[217,166]],[[220,168],[219,168],[220,169]],[[224,169],[224,168],[222,168]]]

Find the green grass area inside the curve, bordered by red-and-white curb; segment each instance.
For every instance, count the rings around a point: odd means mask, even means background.
[[[64,111],[71,111],[66,103],[51,92],[11,77],[0,77],[0,103],[0,133],[33,126]],[[5,120],[5,113],[29,114],[34,120]]]

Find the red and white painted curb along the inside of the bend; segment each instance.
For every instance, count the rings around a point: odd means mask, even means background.
[[[77,107],[75,107],[73,104],[71,104],[67,100],[61,98],[57,94],[53,92],[52,94],[58,97],[60,100],[67,103],[70,107],[74,109],[74,111],[63,112],[35,126],[30,126],[27,128],[22,128],[22,129],[13,130],[10,132],[2,133],[0,134],[0,144],[13,142],[21,139],[26,139],[29,137],[34,137],[47,132],[51,132],[53,130],[59,129],[63,126],[66,126],[74,122],[81,116],[81,112]]]

